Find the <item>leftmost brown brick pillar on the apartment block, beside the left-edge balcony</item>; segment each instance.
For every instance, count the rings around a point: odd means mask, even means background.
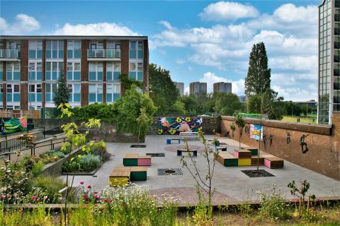
[[[21,81],[28,81],[28,40],[21,41]],[[22,110],[28,109],[28,83],[20,85],[20,105]]]

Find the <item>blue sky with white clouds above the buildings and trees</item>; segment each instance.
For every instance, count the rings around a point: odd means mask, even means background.
[[[271,87],[317,100],[321,0],[0,1],[0,35],[145,35],[149,62],[173,81],[232,82],[244,94],[251,47],[264,42]]]

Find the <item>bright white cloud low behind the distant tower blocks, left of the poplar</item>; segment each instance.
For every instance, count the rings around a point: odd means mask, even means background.
[[[227,78],[223,78],[221,76],[216,76],[215,73],[210,71],[203,74],[203,77],[200,78],[201,83],[207,83],[207,92],[211,93],[213,90],[213,84],[224,82],[224,83],[232,83],[232,93],[237,95],[244,95],[244,79],[239,79],[238,81],[232,81]]]

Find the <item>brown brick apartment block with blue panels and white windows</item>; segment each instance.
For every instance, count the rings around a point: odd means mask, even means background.
[[[113,103],[125,93],[120,75],[149,91],[145,36],[0,36],[0,108],[55,107],[61,71],[73,107]]]

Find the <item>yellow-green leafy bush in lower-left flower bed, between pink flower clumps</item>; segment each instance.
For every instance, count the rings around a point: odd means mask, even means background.
[[[47,196],[46,203],[57,203],[60,194],[58,191],[64,188],[65,184],[62,179],[52,176],[38,176],[35,177],[30,184],[33,187],[40,188]],[[35,194],[36,195],[36,194]]]

